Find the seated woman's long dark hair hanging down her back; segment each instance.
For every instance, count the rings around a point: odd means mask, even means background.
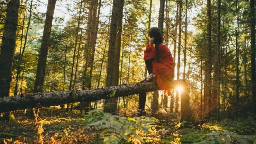
[[[159,47],[159,44],[163,43],[163,35],[162,35],[160,29],[157,27],[152,27],[148,31],[148,35],[150,36],[150,38],[154,37],[154,44],[155,44],[155,49],[156,49],[156,61],[159,62],[158,47]]]

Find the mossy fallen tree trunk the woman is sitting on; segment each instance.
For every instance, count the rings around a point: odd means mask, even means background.
[[[174,81],[173,88],[176,88],[176,85],[181,82],[183,83],[184,81]],[[0,98],[0,112],[9,112],[28,108],[41,108],[82,101],[89,102],[156,90],[160,90],[157,85],[147,82],[135,85],[106,87],[97,90],[29,93]]]

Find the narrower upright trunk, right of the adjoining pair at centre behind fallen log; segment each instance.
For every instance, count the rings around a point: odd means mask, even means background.
[[[119,65],[120,65],[120,53],[121,53],[121,37],[122,37],[122,25],[123,25],[123,8],[124,0],[119,0],[118,22],[117,22],[117,37],[115,46],[115,57],[113,69],[113,86],[118,85],[119,80]]]

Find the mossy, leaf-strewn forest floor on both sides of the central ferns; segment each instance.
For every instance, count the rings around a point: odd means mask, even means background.
[[[39,130],[31,114],[33,113],[28,110],[26,114],[17,111],[14,113],[15,120],[0,121],[0,144],[104,144],[100,130],[84,129],[86,121],[80,117],[79,110],[67,113],[58,108],[40,109]],[[174,115],[171,118],[172,120],[159,121],[161,133],[155,136],[158,140],[148,143],[256,144],[256,121],[252,117],[236,121],[226,119],[219,124],[213,122],[203,125],[189,124],[189,128],[181,126],[182,123],[176,123]],[[125,141],[120,144],[123,143]],[[135,141],[129,142],[132,143],[139,144]]]

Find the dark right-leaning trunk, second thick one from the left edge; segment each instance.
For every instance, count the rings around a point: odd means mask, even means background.
[[[50,46],[50,36],[52,30],[52,21],[54,15],[54,9],[57,0],[48,0],[48,6],[46,11],[46,20],[44,26],[44,32],[42,37],[42,43],[39,52],[36,80],[34,85],[34,92],[43,92],[43,85],[46,72],[46,61],[48,55],[48,49]]]

